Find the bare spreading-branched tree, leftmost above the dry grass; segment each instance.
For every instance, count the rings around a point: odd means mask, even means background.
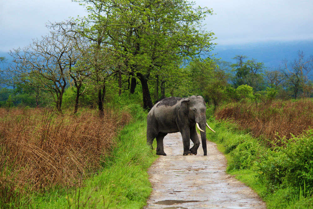
[[[75,44],[65,36],[51,31],[42,39],[34,39],[23,50],[18,48],[10,51],[14,64],[8,71],[22,82],[49,91],[57,111],[62,113],[62,97],[68,83],[67,77],[78,57]]]

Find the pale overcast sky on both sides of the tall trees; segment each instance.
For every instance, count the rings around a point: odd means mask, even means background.
[[[213,8],[205,20],[220,45],[313,39],[313,0],[196,0]],[[71,0],[0,0],[0,51],[47,33],[45,24],[86,15]]]

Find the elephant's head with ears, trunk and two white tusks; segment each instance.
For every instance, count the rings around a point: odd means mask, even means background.
[[[207,138],[206,138],[206,126],[209,127],[206,120],[206,105],[203,97],[201,96],[191,96],[186,100],[188,118],[192,123],[195,123],[197,128],[200,130],[201,142],[203,148],[203,154],[207,155]],[[213,131],[215,132],[215,131]]]

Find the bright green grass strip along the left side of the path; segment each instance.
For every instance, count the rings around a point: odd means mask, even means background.
[[[80,188],[33,194],[33,208],[142,208],[151,193],[147,169],[157,158],[146,145],[145,115],[126,125],[115,149],[103,159],[103,169]]]

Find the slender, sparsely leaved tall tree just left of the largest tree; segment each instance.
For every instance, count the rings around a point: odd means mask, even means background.
[[[114,0],[77,0],[77,2],[86,3],[89,12],[87,18],[73,21],[78,23],[75,31],[90,43],[92,53],[89,53],[89,60],[94,69],[92,79],[95,80],[99,115],[102,117],[106,79],[117,71],[116,66],[119,65],[120,58],[119,52],[114,50],[116,44],[109,36],[112,25],[116,24],[113,9],[117,3]]]

